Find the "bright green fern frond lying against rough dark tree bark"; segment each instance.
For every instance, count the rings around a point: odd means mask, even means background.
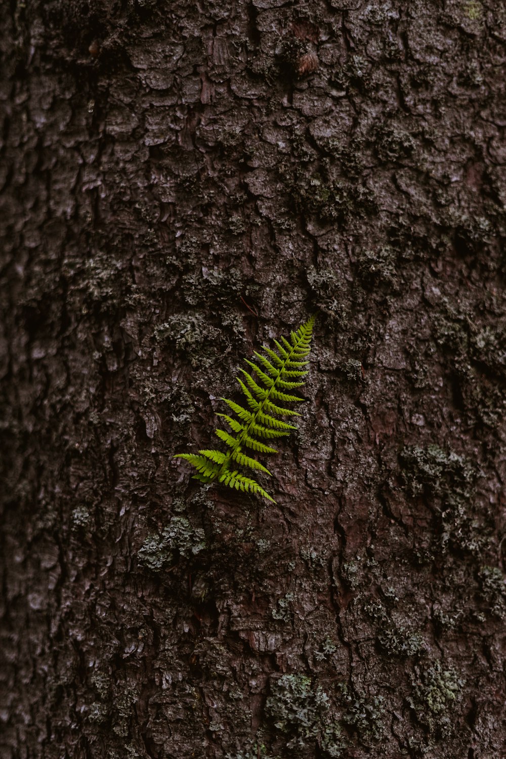
[[[245,359],[251,372],[240,369],[242,376],[236,379],[248,408],[222,398],[235,416],[230,413],[218,414],[228,424],[231,432],[215,430],[228,450],[202,449],[198,455],[178,453],[174,456],[186,459],[196,468],[197,474],[193,475],[193,479],[205,483],[218,481],[235,490],[257,493],[275,502],[256,480],[240,474],[238,467],[270,475],[269,469],[244,452],[244,447],[259,453],[277,453],[276,449],[262,440],[270,442],[297,429],[278,417],[300,416],[296,411],[286,408],[286,404],[303,401],[298,395],[292,395],[291,391],[303,386],[303,377],[308,373],[305,367],[309,364],[314,323],[315,315],[300,326],[297,332],[291,332],[290,341],[284,337],[281,337],[280,342],[275,340],[277,350],[263,347],[263,354],[254,351],[256,360]]]

